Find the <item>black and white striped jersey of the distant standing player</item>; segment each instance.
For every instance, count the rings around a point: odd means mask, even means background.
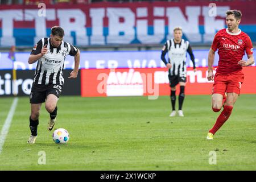
[[[171,63],[172,68],[169,70],[170,75],[179,75],[180,77],[187,76],[187,66],[186,66],[186,59],[187,59],[187,52],[191,57],[193,62],[193,67],[195,67],[195,56],[193,55],[191,46],[189,45],[188,41],[181,39],[180,43],[175,43],[174,39],[167,40],[166,44],[164,44],[161,59],[167,64],[165,59],[165,55],[168,52],[168,63]]]

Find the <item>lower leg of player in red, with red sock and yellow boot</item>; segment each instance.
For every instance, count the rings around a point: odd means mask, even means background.
[[[226,102],[224,105],[224,109],[222,110],[221,114],[217,118],[217,121],[212,129],[209,130],[207,135],[207,139],[213,139],[213,135],[220,129],[220,127],[228,120],[230,117],[233,106],[236,103],[238,98],[237,93],[227,93]]]

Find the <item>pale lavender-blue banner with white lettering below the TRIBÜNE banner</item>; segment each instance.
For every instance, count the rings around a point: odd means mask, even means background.
[[[196,67],[208,67],[209,50],[193,50],[195,55]],[[256,49],[254,49],[256,57]],[[28,52],[16,52],[15,61],[9,58],[9,53],[0,53],[0,70],[1,69],[21,69],[31,70],[36,68],[36,64],[28,64],[30,56]],[[161,51],[82,51],[80,55],[81,69],[105,69],[105,68],[165,68],[163,61],[160,59]],[[166,55],[167,59],[167,55]],[[243,56],[247,60],[247,56]],[[187,55],[187,67],[193,67],[192,61]],[[218,54],[214,57],[214,66],[218,65]],[[75,66],[74,58],[67,56],[64,63],[64,69],[73,69]],[[255,66],[255,63],[252,65]]]

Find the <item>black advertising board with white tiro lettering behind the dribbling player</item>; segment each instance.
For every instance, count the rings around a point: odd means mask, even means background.
[[[66,96],[79,96],[80,92],[80,73],[76,79],[68,78],[71,70],[64,70],[63,77],[65,79],[63,92],[61,95]],[[18,90],[17,96],[28,96],[31,92],[31,87],[34,81],[35,71],[19,70],[16,72],[16,84],[12,81],[11,70],[1,70],[0,71],[0,97],[2,96],[13,96],[14,90]]]

